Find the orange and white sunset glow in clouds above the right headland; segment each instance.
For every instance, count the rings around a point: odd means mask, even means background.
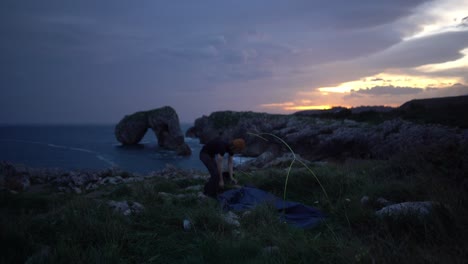
[[[466,4],[439,1],[421,7],[417,15],[431,19],[405,32],[400,42],[352,60],[310,67],[309,85],[291,87],[296,92],[287,102],[264,103],[260,108],[289,113],[333,106],[398,107],[411,99],[468,94],[468,14],[460,8]],[[415,14],[400,22],[417,18]],[[458,42],[447,42],[449,36]],[[450,56],[442,56],[446,44],[454,48]],[[334,77],[315,84],[328,73]]]

